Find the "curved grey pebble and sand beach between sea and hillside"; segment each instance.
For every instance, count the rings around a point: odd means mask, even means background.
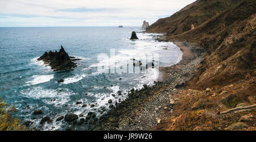
[[[160,38],[167,41],[165,37]],[[152,130],[168,119],[174,111],[172,102],[175,98],[171,94],[192,78],[203,57],[201,49],[192,44],[172,42],[183,51],[181,61],[172,66],[160,67],[160,76],[155,85],[129,91],[129,97],[102,115],[96,127],[89,130]]]

